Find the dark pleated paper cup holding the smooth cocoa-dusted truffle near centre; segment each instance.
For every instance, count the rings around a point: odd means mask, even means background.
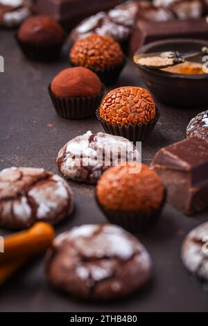
[[[55,112],[64,119],[86,119],[95,116],[96,108],[101,104],[104,93],[103,85],[101,93],[94,96],[64,98],[55,96],[51,91],[51,84],[49,85],[49,95]]]

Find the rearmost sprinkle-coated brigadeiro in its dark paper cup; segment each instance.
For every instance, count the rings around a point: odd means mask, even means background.
[[[94,71],[105,85],[114,83],[125,65],[125,56],[112,37],[92,34],[76,41],[69,53],[73,66]]]

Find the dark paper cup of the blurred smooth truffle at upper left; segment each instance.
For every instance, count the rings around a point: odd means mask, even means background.
[[[58,60],[60,56],[63,42],[56,45],[35,45],[21,42],[17,37],[17,34],[15,35],[15,38],[22,53],[29,60],[48,62]]]

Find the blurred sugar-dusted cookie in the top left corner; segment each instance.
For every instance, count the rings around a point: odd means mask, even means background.
[[[18,26],[30,15],[31,1],[0,0],[0,26]]]

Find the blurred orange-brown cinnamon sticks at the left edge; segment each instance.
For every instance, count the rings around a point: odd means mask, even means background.
[[[13,267],[18,261],[38,254],[51,246],[54,229],[51,225],[38,222],[32,228],[11,234],[4,238],[4,252],[0,253],[0,268]],[[10,265],[9,265],[10,264]],[[12,267],[11,267],[12,268]],[[10,268],[8,268],[10,269]]]

